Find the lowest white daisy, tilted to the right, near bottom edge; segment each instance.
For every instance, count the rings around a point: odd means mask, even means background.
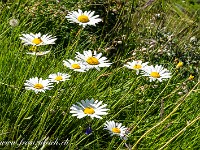
[[[121,139],[127,140],[127,128],[122,126],[121,123],[106,121],[104,129],[108,130],[111,136],[117,135],[120,136]]]

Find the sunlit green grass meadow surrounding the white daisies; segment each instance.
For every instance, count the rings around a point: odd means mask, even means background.
[[[0,149],[200,149],[198,2],[1,1]],[[95,11],[102,21],[85,28],[69,22],[65,16],[78,9]],[[20,37],[39,32],[56,37],[55,44],[37,47],[49,50],[46,55],[27,54],[32,46]],[[112,64],[86,72],[63,65],[87,50],[102,53]],[[124,66],[133,60],[162,65],[171,77],[150,82]],[[69,80],[45,92],[25,88],[30,78],[57,72],[69,74]],[[86,99],[107,104],[107,115],[72,116],[72,105]],[[127,128],[127,140],[104,129],[111,120]]]

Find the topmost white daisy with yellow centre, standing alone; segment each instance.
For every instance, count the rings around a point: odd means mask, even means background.
[[[96,23],[101,22],[102,20],[99,18],[99,15],[94,16],[94,11],[85,11],[82,10],[72,11],[67,15],[67,18],[71,23],[78,23],[85,27],[86,25],[95,26]]]

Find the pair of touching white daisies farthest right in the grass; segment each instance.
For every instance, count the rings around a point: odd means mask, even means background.
[[[160,81],[166,80],[168,78],[171,78],[171,73],[169,70],[165,69],[161,65],[147,65],[148,62],[142,63],[141,60],[133,60],[132,62],[127,62],[127,64],[124,65],[124,67],[128,69],[132,69],[136,71],[136,74],[139,73],[142,74],[142,76],[147,76],[150,79],[150,82],[152,81]]]

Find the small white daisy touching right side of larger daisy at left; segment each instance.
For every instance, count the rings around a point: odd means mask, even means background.
[[[55,74],[50,74],[49,75],[49,80],[51,82],[56,82],[59,83],[61,81],[65,81],[65,80],[69,80],[70,75],[68,75],[67,73],[55,73]]]

